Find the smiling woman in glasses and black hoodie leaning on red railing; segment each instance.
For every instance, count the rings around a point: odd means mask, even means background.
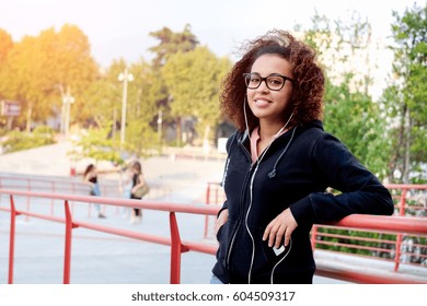
[[[220,95],[238,130],[227,142],[211,283],[312,283],[312,225],[353,213],[391,215],[393,200],[323,130],[325,80],[314,50],[285,31],[245,47]]]

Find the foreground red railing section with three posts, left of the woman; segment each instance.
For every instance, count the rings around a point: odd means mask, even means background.
[[[194,242],[183,243],[181,240],[175,213],[194,213],[194,214],[216,214],[216,208],[197,207],[189,204],[174,204],[174,203],[162,203],[152,201],[139,201],[139,200],[127,200],[127,199],[112,199],[104,197],[90,197],[90,196],[77,196],[77,195],[57,195],[47,192],[30,192],[22,190],[8,190],[0,189],[0,195],[10,196],[10,209],[0,207],[0,211],[7,211],[11,214],[10,225],[10,252],[9,252],[9,283],[13,283],[13,261],[14,261],[14,242],[15,242],[15,219],[18,215],[27,215],[32,217],[38,217],[47,221],[59,222],[66,224],[66,237],[65,237],[65,263],[64,263],[64,283],[70,282],[70,264],[71,264],[71,240],[72,240],[72,228],[84,227],[88,229],[99,231],[103,233],[119,235],[123,237],[150,242],[160,245],[171,246],[171,283],[180,283],[181,278],[181,254],[189,250],[215,254],[216,247],[206,244],[199,244]],[[14,203],[14,196],[34,197],[62,200],[65,203],[65,219],[57,217],[46,214],[34,213],[30,211],[16,210]],[[83,203],[100,203],[114,207],[126,207],[126,208],[141,208],[158,211],[170,212],[170,228],[171,237],[161,237],[150,234],[141,234],[132,231],[114,228],[108,226],[101,226],[97,224],[79,222],[72,219],[70,213],[69,201],[83,202]]]

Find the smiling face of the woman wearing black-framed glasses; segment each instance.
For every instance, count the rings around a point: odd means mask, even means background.
[[[267,78],[272,74],[280,74],[293,78],[291,64],[278,55],[266,54],[258,57],[252,66],[251,73],[257,73],[261,78]],[[284,125],[288,118],[285,118],[285,111],[289,106],[292,94],[292,83],[285,81],[285,85],[279,91],[273,91],[267,87],[266,81],[262,81],[257,89],[246,89],[247,102],[252,113],[262,121]],[[280,79],[276,80],[280,81]],[[270,82],[270,87],[274,86]]]

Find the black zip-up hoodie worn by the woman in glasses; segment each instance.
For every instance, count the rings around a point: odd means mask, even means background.
[[[278,137],[261,162],[252,164],[246,132],[236,131],[227,142],[222,184],[229,219],[217,234],[212,269],[223,283],[311,283],[313,223],[393,213],[388,189],[319,120]],[[342,193],[326,192],[327,187]],[[287,249],[276,254],[262,237],[287,208],[298,227]]]

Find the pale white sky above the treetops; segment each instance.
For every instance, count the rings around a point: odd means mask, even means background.
[[[312,25],[315,12],[331,21],[345,21],[357,12],[372,25],[372,37],[385,44],[391,35],[392,11],[426,0],[0,0],[0,28],[19,42],[25,35],[66,24],[79,26],[89,37],[92,55],[102,67],[123,58],[128,63],[151,60],[148,48],[158,40],[150,32],[191,25],[201,45],[217,56],[236,59],[245,39],[268,30],[292,32],[297,24]],[[380,56],[381,58],[381,56]],[[385,57],[382,59],[385,61]],[[392,58],[389,56],[390,62]],[[384,67],[390,66],[384,62]],[[384,72],[385,73],[385,72]],[[384,74],[383,73],[383,74]],[[383,76],[381,76],[383,78]]]

